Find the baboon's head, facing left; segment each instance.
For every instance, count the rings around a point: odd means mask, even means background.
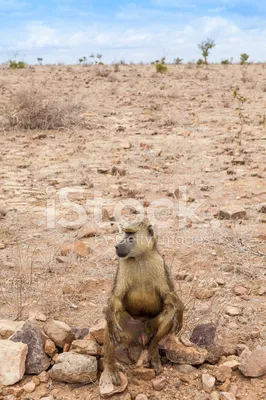
[[[120,258],[139,257],[154,247],[156,240],[151,226],[144,225],[138,230],[125,232],[125,236],[116,248]]]

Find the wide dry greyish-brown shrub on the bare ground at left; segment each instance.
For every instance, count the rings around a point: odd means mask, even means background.
[[[11,99],[2,113],[0,128],[62,129],[82,125],[85,105],[78,100],[52,99],[35,88],[23,88]]]

